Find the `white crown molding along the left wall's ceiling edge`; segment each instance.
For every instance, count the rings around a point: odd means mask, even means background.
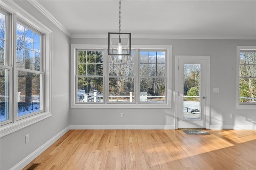
[[[71,37],[71,33],[58,21],[52,14],[38,2],[38,0],[28,0],[30,4],[32,4],[36,9],[38,9],[46,18],[48,18],[53,24],[55,24],[62,32],[64,32],[67,36]]]

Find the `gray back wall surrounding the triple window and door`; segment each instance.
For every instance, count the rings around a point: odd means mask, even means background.
[[[71,44],[107,44],[107,39],[71,38]],[[132,39],[132,44],[172,45],[173,91],[175,55],[210,55],[210,125],[255,128],[256,110],[236,109],[236,46],[256,45],[256,40]],[[172,97],[172,109],[71,109],[70,125],[174,125],[174,107]]]

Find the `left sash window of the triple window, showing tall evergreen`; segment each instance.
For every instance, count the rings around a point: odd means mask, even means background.
[[[77,101],[103,102],[103,51],[77,50]],[[97,97],[94,97],[97,96]],[[94,102],[94,100],[96,100]]]

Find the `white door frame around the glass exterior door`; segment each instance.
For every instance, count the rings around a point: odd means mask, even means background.
[[[175,55],[175,129],[178,129],[178,59],[206,59],[206,129],[210,129],[210,56],[209,55]]]

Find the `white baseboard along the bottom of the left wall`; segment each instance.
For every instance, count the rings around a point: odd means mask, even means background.
[[[48,140],[45,144],[37,148],[34,152],[12,167],[10,170],[21,170],[25,166],[27,166],[32,160],[34,160],[37,156],[39,156],[44,150],[46,150],[49,146],[51,146],[56,140],[58,140],[61,136],[63,136],[66,132],[70,130],[70,126],[64,128],[61,132],[56,134],[53,138]]]

